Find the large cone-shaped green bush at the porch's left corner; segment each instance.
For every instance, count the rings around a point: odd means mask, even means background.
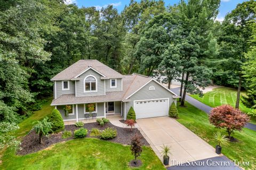
[[[63,122],[62,116],[60,115],[60,112],[58,109],[52,110],[52,114],[49,118],[49,122],[52,123],[52,132],[53,133],[58,133],[60,131],[63,131],[64,122]]]

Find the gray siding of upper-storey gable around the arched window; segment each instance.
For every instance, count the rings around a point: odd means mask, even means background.
[[[97,78],[97,92],[84,92],[84,78],[86,76],[93,75]],[[101,75],[92,69],[86,71],[84,74],[78,77],[80,80],[76,81],[76,96],[92,96],[92,95],[105,95],[105,80],[101,80]]]

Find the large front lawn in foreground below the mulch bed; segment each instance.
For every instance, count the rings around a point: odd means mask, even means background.
[[[129,167],[130,147],[98,139],[76,139],[58,143],[26,156],[7,150],[0,169],[165,169],[149,147],[143,147],[142,166]]]

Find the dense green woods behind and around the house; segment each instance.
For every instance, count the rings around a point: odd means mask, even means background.
[[[186,93],[211,82],[246,88],[255,107],[255,1],[216,21],[220,0],[131,0],[78,8],[61,0],[0,0],[0,121],[20,122],[52,95],[50,79],[80,59],[97,59],[131,74],[181,81]],[[237,101],[240,99],[238,98]],[[238,106],[237,103],[236,107]]]

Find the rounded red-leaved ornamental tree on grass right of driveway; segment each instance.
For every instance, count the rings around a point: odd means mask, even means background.
[[[246,123],[249,122],[250,117],[241,110],[225,104],[213,108],[209,119],[210,123],[215,127],[226,128],[228,137],[230,138],[230,134],[234,131],[241,131]]]

